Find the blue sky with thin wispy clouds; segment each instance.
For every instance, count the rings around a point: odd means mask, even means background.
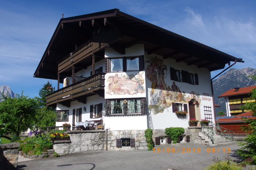
[[[255,7],[254,0],[1,0],[0,86],[38,96],[48,80],[33,74],[62,13],[71,17],[113,8],[244,59],[233,68],[255,68]],[[52,84],[57,87],[56,80]]]

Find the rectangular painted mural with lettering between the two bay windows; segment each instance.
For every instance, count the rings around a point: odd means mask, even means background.
[[[146,97],[145,72],[121,72],[105,75],[105,98]]]

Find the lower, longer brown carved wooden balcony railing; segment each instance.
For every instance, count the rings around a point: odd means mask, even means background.
[[[49,104],[54,100],[62,99],[70,95],[77,94],[82,91],[87,91],[98,86],[104,86],[104,75],[106,73],[98,72],[79,82],[70,84],[69,86],[60,88],[46,96],[46,103]]]

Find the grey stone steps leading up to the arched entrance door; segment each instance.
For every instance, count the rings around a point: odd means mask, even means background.
[[[212,143],[211,139],[207,135],[203,134],[202,132],[199,133],[199,137],[201,137],[202,142],[204,144],[209,146],[226,146],[226,145],[233,145],[236,143],[234,141],[230,142],[228,139],[221,137],[221,135],[217,135],[217,134],[213,135],[214,144]]]

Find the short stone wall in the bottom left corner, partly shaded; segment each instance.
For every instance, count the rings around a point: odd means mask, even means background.
[[[0,145],[0,170],[16,170],[18,166],[20,143]]]

